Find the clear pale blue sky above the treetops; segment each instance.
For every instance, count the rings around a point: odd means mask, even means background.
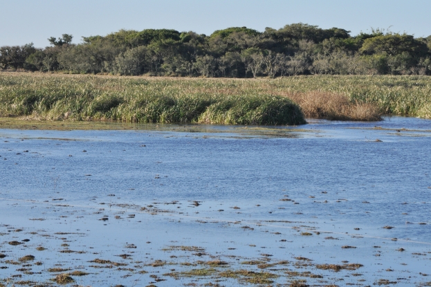
[[[172,28],[210,35],[214,30],[306,23],[321,28],[369,28],[431,35],[431,0],[0,0],[0,46],[48,37],[107,35],[121,28]]]

